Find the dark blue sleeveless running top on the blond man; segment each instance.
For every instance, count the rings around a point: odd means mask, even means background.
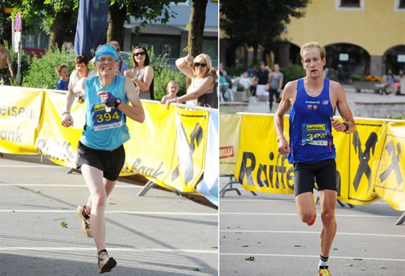
[[[336,158],[331,133],[333,117],[329,79],[317,97],[306,94],[304,79],[298,80],[296,101],[289,114],[289,163],[316,162]]]

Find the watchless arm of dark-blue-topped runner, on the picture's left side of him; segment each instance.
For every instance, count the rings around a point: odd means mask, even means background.
[[[278,152],[285,154],[290,152],[289,143],[284,136],[284,115],[289,111],[292,106],[293,99],[296,98],[297,83],[296,81],[290,81],[285,85],[283,91],[283,97],[281,98],[280,105],[274,114],[274,127],[276,128]]]

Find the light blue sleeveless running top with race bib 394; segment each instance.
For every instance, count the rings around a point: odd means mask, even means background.
[[[100,84],[98,76],[86,79],[83,96],[86,104],[86,128],[80,141],[95,150],[114,150],[129,140],[129,131],[124,113],[115,107],[108,111],[97,95],[100,91],[109,91],[122,102],[128,103],[125,97],[125,77],[115,76],[107,87]]]

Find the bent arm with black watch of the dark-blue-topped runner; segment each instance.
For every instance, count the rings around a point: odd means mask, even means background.
[[[343,89],[341,84],[337,83],[336,81],[330,82],[330,89],[332,89],[332,94],[336,98],[337,110],[339,111],[339,114],[343,118],[344,122],[349,125],[349,129],[346,130],[345,124],[339,122],[339,120],[330,118],[332,127],[335,128],[335,130],[342,131],[346,134],[356,132],[356,123],[354,122],[352,111],[349,108],[345,90]]]

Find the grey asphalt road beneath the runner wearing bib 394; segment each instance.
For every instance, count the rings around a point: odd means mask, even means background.
[[[0,157],[0,275],[98,275],[76,214],[89,195],[79,172],[40,156]],[[218,210],[119,178],[106,208],[105,275],[218,275]],[[64,226],[63,226],[64,225]]]

